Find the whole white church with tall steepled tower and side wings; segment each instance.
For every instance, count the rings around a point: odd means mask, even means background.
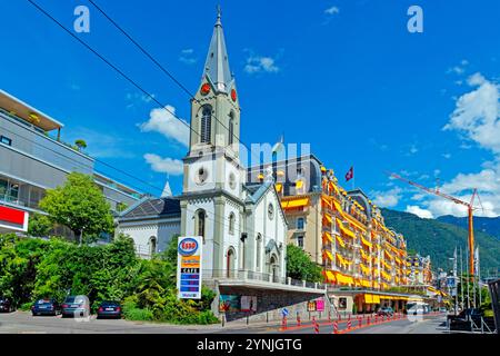
[[[182,194],[138,201],[120,215],[117,233],[131,236],[138,254],[146,255],[161,253],[176,235],[201,236],[202,279],[218,293],[216,314],[221,295],[239,295],[254,296],[258,314],[279,318],[280,306],[307,308],[307,300],[326,290],[287,278],[287,219],[272,170],[248,181],[240,161],[240,113],[219,13],[191,99]]]

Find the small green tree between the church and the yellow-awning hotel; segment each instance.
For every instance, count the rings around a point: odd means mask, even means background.
[[[287,246],[287,275],[293,279],[321,281],[321,267],[314,264],[303,249],[296,245]]]

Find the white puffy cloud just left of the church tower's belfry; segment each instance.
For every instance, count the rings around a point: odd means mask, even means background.
[[[160,132],[169,139],[189,146],[189,123],[174,117],[176,108],[167,106],[164,109],[156,108],[149,113],[149,120],[139,125],[142,132]]]

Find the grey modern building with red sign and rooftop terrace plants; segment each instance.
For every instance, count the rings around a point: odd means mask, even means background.
[[[73,171],[93,177],[112,210],[141,194],[94,169],[96,160],[61,140],[63,125],[0,89],[0,233],[26,233],[47,189]],[[82,137],[84,139],[84,137]]]

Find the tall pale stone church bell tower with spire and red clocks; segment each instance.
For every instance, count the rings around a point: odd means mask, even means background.
[[[246,169],[240,164],[240,105],[218,11],[201,82],[191,99],[183,159],[181,234],[203,237],[203,275],[239,263]]]

